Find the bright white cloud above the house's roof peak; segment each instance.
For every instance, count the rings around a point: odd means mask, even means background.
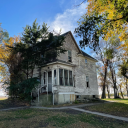
[[[83,14],[86,13],[87,3],[83,3],[81,6],[74,7],[72,9],[66,9],[62,14],[57,14],[55,20],[49,22],[50,30],[55,30],[59,32],[74,32],[75,28],[78,26],[77,21],[81,18]]]

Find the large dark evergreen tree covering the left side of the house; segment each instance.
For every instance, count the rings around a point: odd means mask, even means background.
[[[18,57],[17,65],[13,68],[12,73],[15,74],[11,77],[10,90],[17,90],[15,95],[22,98],[27,97],[30,100],[30,93],[32,89],[37,86],[37,79],[33,77],[34,69],[41,70],[41,67],[51,61],[54,61],[60,53],[64,53],[61,46],[63,45],[64,37],[61,35],[53,35],[48,31],[47,24],[43,24],[42,27],[38,26],[36,20],[33,22],[32,27],[26,26],[24,28],[23,37],[20,43],[15,43],[11,48],[11,53],[14,59]],[[14,61],[15,62],[15,61]],[[19,73],[19,75],[17,75]],[[22,80],[17,77],[21,77]],[[25,76],[25,77],[24,77]],[[17,81],[15,80],[17,78]],[[36,79],[36,80],[35,80]],[[29,87],[30,82],[35,82],[32,87]],[[27,93],[25,93],[25,87]]]

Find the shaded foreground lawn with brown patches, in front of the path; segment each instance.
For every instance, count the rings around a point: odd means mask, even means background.
[[[127,128],[128,123],[75,110],[21,109],[0,112],[0,128]]]

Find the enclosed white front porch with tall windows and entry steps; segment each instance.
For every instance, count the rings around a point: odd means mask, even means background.
[[[74,76],[71,69],[42,68],[40,84],[36,88],[36,91],[33,91],[31,95],[36,97],[36,102],[38,103],[40,103],[42,97],[45,97],[43,98],[45,103],[51,103],[53,105],[73,102],[75,101],[73,79]]]

